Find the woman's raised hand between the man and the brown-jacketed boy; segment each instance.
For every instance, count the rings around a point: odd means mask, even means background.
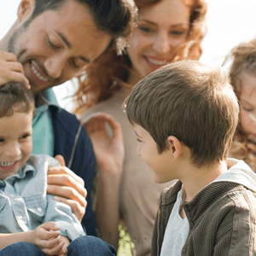
[[[106,124],[110,125],[113,136],[109,136]],[[125,146],[121,126],[107,113],[94,113],[85,121],[84,127],[90,136],[96,154],[96,162],[104,174],[122,174]]]

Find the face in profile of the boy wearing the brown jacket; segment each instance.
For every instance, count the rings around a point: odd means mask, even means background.
[[[166,183],[176,177],[173,172],[173,156],[170,150],[159,154],[157,144],[148,131],[144,130],[140,125],[134,125],[134,130],[137,135],[137,154],[147,164],[148,171],[151,173],[155,183]]]

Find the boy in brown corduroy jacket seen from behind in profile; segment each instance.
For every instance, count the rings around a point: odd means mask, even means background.
[[[160,195],[152,255],[256,255],[256,175],[227,160],[239,106],[220,67],[177,61],[141,80],[125,100],[137,153]]]

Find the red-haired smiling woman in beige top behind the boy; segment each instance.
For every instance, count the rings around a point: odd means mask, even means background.
[[[79,76],[74,96],[76,113],[84,122],[91,113],[113,115],[122,127],[125,161],[122,172],[122,148],[111,158],[111,148],[103,150],[99,137],[87,124],[99,166],[96,178],[96,223],[99,236],[118,245],[119,218],[135,244],[136,255],[149,255],[154,218],[160,192],[169,184],[156,184],[143,160],[136,153],[137,139],[122,102],[131,87],[155,69],[184,58],[199,59],[201,40],[206,33],[204,0],[137,0],[137,27],[131,34],[125,55],[109,49]],[[116,127],[111,118],[113,132]],[[99,126],[104,125],[102,122]],[[120,217],[119,217],[120,213]]]

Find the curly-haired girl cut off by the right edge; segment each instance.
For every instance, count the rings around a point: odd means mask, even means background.
[[[256,172],[256,39],[232,49],[225,61],[231,59],[230,79],[240,101],[240,120],[230,156],[244,160]]]

